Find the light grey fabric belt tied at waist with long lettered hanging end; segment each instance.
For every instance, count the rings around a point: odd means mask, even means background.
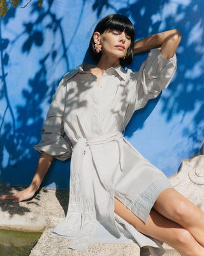
[[[73,148],[69,185],[69,207],[65,225],[69,236],[77,236],[77,239],[73,241],[69,248],[85,250],[96,230],[96,209],[91,172],[83,168],[86,147],[109,143],[118,140],[122,136],[123,134],[121,132],[115,132],[103,134],[91,140],[80,138]]]

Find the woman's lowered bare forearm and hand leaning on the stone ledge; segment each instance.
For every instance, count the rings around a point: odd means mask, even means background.
[[[45,152],[41,152],[40,158],[38,161],[38,166],[36,168],[36,172],[34,173],[33,180],[31,182],[31,185],[15,194],[9,194],[9,195],[1,195],[2,199],[8,199],[13,200],[14,203],[19,203],[24,200],[28,200],[34,196],[36,191],[40,188],[40,184],[43,181],[45,174],[48,171],[48,168],[50,167],[50,164],[52,163],[53,156],[50,156],[46,154]]]

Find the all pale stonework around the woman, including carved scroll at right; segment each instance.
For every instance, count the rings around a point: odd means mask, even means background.
[[[182,162],[180,171],[170,177],[170,181],[180,193],[204,210],[204,156]],[[0,193],[7,194],[22,188],[0,186]],[[66,216],[68,209],[68,191],[41,189],[36,196],[13,204],[9,200],[0,200],[0,227],[2,229],[43,231],[30,256],[139,256],[140,248],[135,243],[105,244],[91,243],[87,250],[71,250],[71,241],[55,237],[50,231]],[[179,256],[175,250],[164,244],[164,256]]]

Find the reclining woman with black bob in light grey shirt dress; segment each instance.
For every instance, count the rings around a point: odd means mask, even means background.
[[[85,249],[105,227],[118,241],[122,235],[135,239],[141,255],[163,255],[163,241],[182,256],[201,256],[203,212],[122,136],[134,111],[170,83],[181,36],[177,29],[137,42],[134,36],[127,17],[99,21],[89,45],[98,64],[81,65],[63,77],[35,146],[41,154],[31,185],[2,198],[31,198],[52,159],[72,154],[68,214],[53,234],[73,238],[71,248]],[[120,66],[150,49],[139,72]]]

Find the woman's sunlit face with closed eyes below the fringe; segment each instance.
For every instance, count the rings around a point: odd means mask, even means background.
[[[131,44],[131,37],[124,31],[108,30],[99,36],[102,54],[116,58],[123,58]]]

